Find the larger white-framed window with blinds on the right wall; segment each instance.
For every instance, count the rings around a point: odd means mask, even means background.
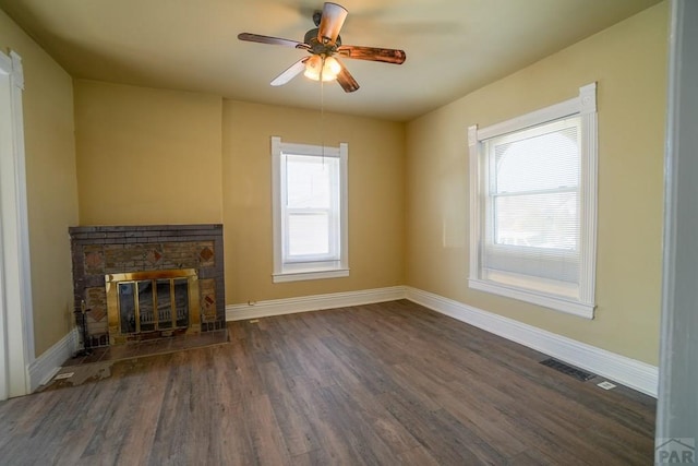
[[[593,318],[595,83],[468,139],[469,286]]]

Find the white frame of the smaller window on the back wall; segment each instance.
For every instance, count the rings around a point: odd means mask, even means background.
[[[339,199],[335,200],[339,213],[339,235],[330,234],[332,250],[328,256],[306,256],[291,260],[286,253],[286,202],[284,176],[284,154],[339,159]],[[298,282],[321,278],[349,276],[349,239],[348,239],[348,183],[347,160],[349,145],[340,143],[337,147],[296,144],[282,142],[279,136],[272,136],[272,196],[274,228],[274,283]],[[338,240],[336,239],[338,238]]]

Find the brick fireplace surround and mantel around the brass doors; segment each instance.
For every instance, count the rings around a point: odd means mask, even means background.
[[[222,225],[69,228],[76,315],[86,313],[87,346],[109,345],[106,274],[195,268],[201,331],[226,326]]]

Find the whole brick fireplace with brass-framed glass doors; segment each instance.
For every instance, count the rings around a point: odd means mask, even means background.
[[[224,330],[222,225],[71,227],[86,346]]]

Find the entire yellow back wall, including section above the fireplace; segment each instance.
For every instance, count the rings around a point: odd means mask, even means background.
[[[224,223],[226,301],[404,283],[405,127],[75,82],[81,225]],[[272,283],[272,135],[349,143],[348,278]],[[221,148],[222,147],[222,148]]]

